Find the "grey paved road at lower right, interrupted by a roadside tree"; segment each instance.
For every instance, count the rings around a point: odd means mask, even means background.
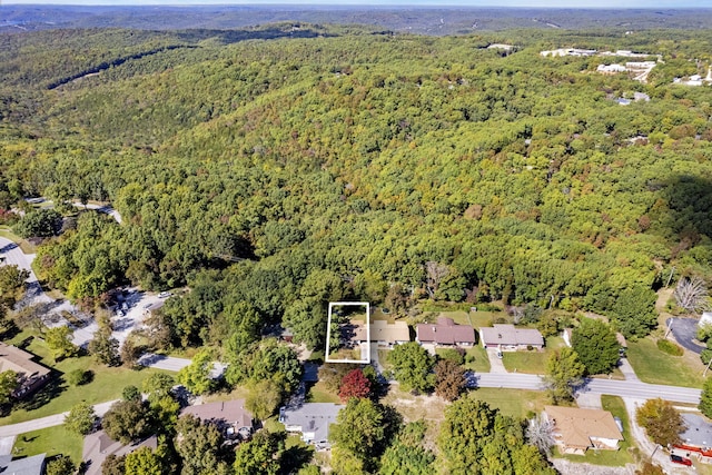
[[[508,374],[477,374],[477,386],[479,387],[502,387],[511,389],[542,390],[544,384],[541,376],[524,375],[521,373]],[[698,404],[700,402],[700,389],[678,386],[662,386],[655,384],[641,383],[635,380],[615,379],[589,379],[586,386],[581,389],[591,394],[610,394],[613,396],[632,397],[636,399],[652,399],[662,397],[675,403]]]

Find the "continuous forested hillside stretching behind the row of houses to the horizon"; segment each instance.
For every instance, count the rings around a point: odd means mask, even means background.
[[[174,345],[221,343],[248,307],[316,345],[343,298],[533,303],[645,335],[671,273],[710,276],[712,88],[672,78],[706,73],[711,31],[2,43],[0,206],[108,200],[123,218],[82,215],[39,248],[40,278],[87,305],[188,284],[165,309]],[[643,85],[597,75],[600,57],[540,56],[560,47],[664,63]],[[635,91],[650,101],[615,101]]]

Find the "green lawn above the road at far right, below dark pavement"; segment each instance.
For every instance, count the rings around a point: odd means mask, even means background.
[[[704,366],[696,355],[668,355],[657,349],[650,337],[630,342],[627,359],[637,377],[645,383],[702,387]]]

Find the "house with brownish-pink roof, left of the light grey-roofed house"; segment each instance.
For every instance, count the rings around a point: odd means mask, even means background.
[[[253,415],[245,409],[245,399],[219,400],[185,407],[180,415],[191,414],[218,426],[228,439],[247,439],[253,434]]]

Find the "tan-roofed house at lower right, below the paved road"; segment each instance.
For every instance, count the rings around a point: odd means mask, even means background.
[[[589,448],[617,451],[623,435],[607,410],[545,406],[554,424],[554,441],[564,454],[583,455]]]

